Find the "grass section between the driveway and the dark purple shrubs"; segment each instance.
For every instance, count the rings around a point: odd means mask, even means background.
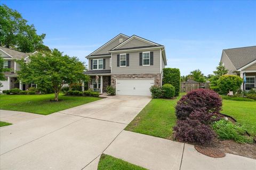
[[[172,139],[173,126],[177,121],[174,106],[183,95],[177,99],[152,99],[125,130]]]

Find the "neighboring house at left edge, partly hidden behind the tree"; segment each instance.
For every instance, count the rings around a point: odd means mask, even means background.
[[[1,81],[3,87],[0,90],[10,90],[13,88],[19,88],[21,90],[27,90],[31,86],[35,86],[35,84],[23,84],[22,82],[18,81],[17,71],[20,70],[19,64],[16,63],[14,60],[21,60],[22,58],[28,62],[29,55],[33,53],[22,53],[18,52],[13,49],[4,48],[0,46],[0,57],[4,59],[4,68],[11,69],[9,72],[5,72],[5,81]]]

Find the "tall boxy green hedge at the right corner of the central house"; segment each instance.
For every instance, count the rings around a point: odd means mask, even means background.
[[[175,95],[179,96],[180,94],[180,70],[165,68],[163,69],[163,84],[172,84],[175,88]]]

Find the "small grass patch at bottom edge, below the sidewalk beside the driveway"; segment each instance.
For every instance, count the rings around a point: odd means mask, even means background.
[[[145,170],[137,165],[133,165],[125,162],[122,159],[118,159],[109,155],[102,154],[98,164],[98,170]]]

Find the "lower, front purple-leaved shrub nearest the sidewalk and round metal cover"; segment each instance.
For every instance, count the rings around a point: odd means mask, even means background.
[[[209,125],[189,118],[178,120],[173,130],[175,137],[179,141],[198,143],[199,145],[209,144],[215,137],[215,133]]]

